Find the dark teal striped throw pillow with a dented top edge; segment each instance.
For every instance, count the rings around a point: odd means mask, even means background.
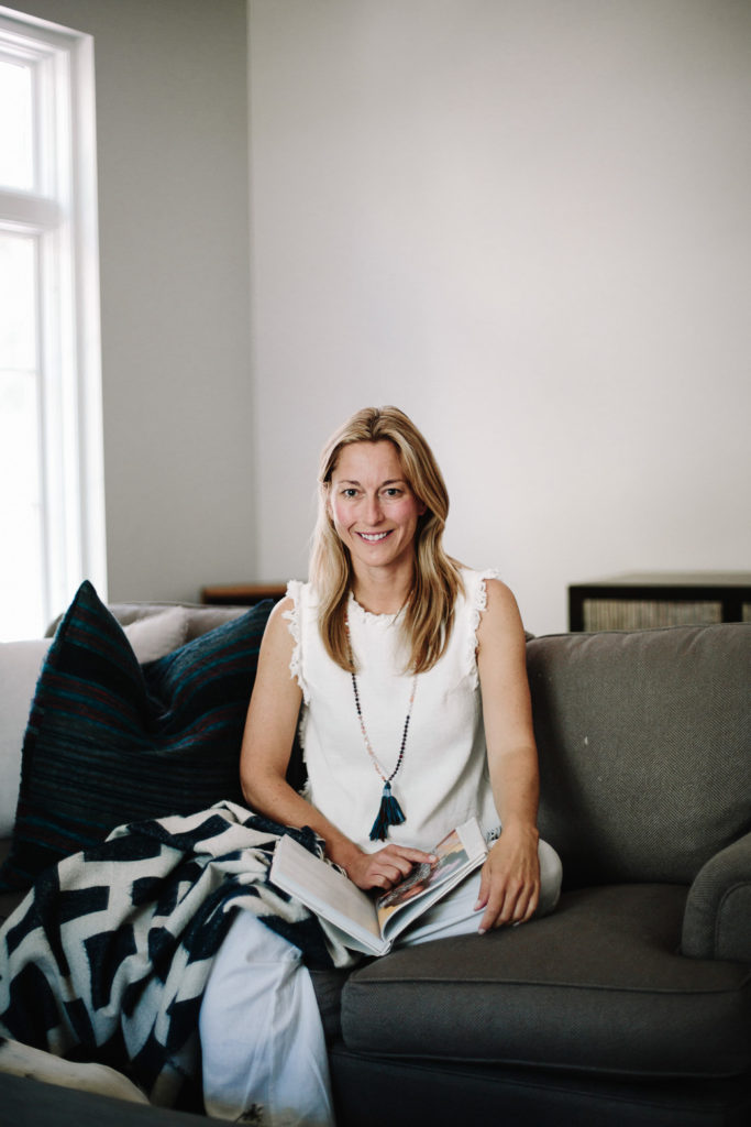
[[[240,745],[271,605],[138,665],[92,585],[81,585],[37,683],[0,890],[27,888],[115,826],[243,801]]]

